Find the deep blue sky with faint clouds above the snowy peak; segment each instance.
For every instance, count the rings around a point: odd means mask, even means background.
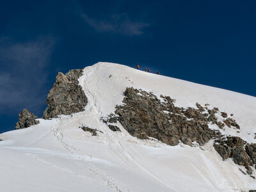
[[[98,61],[256,96],[256,1],[1,1],[0,132]]]

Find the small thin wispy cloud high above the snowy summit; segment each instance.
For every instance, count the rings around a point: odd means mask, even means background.
[[[113,32],[127,36],[134,36],[143,34],[143,29],[150,26],[150,24],[146,22],[132,21],[125,13],[113,14],[110,15],[108,19],[104,20],[92,19],[85,13],[82,13],[81,15],[86,23],[100,32]]]

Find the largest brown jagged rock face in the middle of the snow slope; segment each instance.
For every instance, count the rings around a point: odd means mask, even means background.
[[[116,106],[117,116],[110,116],[108,122],[119,121],[132,136],[156,138],[167,145],[177,145],[180,140],[190,146],[194,141],[204,145],[220,136],[219,131],[209,129],[207,114],[199,109],[177,108],[169,96],[161,95],[161,102],[153,93],[134,88],[126,88],[124,95],[125,105]]]

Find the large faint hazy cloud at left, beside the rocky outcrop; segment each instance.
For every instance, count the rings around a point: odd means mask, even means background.
[[[3,39],[3,38],[2,38]],[[0,114],[20,108],[36,110],[45,103],[40,91],[47,81],[45,67],[54,46],[54,38],[42,37],[24,43],[8,38],[0,45]]]

